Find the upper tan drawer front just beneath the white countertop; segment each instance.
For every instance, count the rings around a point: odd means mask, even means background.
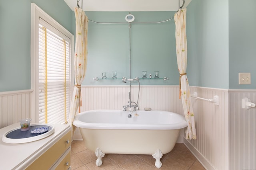
[[[68,141],[68,142],[67,142]],[[71,131],[66,133],[60,140],[58,140],[50,149],[46,150],[38,159],[30,164],[26,170],[46,170],[50,169],[52,165],[62,156],[62,154],[71,145]]]

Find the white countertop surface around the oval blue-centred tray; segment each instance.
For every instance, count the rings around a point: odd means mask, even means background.
[[[24,170],[71,129],[69,125],[54,125],[54,133],[44,139],[20,144],[4,143],[2,136],[17,127],[20,127],[20,123],[0,129],[0,169],[2,170]]]

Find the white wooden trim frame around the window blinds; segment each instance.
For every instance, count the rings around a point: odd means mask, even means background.
[[[39,122],[39,104],[38,104],[38,55],[39,55],[39,42],[38,42],[38,29],[39,29],[39,18],[48,22],[54,28],[62,32],[66,37],[71,40],[71,58],[70,58],[70,94],[72,95],[74,89],[74,35],[55,21],[51,16],[46,14],[42,9],[40,9],[36,4],[31,3],[31,45],[30,45],[30,55],[31,55],[31,89],[33,90],[31,94],[31,118],[32,122]],[[71,101],[70,101],[71,102]]]

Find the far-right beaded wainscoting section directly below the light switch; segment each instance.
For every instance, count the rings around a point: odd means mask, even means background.
[[[256,107],[242,108],[246,97],[256,103],[256,90],[230,90],[230,169],[256,169]]]

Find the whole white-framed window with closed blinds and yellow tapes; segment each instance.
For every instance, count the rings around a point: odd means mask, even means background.
[[[74,36],[38,6],[31,7],[32,119],[36,123],[67,123],[74,82]]]

